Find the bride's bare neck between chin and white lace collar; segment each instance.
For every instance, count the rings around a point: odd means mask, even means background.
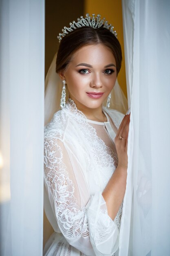
[[[70,99],[72,99],[70,97]],[[104,115],[104,112],[102,111],[102,105],[98,108],[88,108],[84,106],[81,102],[77,101],[76,99],[72,99],[74,103],[76,104],[76,107],[78,110],[80,110],[87,119],[98,121],[98,122],[105,122],[107,121],[107,117]]]

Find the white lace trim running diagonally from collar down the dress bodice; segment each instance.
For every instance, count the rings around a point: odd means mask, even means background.
[[[68,99],[66,107],[63,110],[68,112],[68,115],[74,116],[82,134],[89,144],[91,157],[95,161],[95,167],[91,162],[89,163],[89,170],[93,172],[96,184],[103,191],[117,167],[117,154],[113,152],[112,148],[106,146],[104,141],[97,136],[95,128],[88,124],[88,119],[80,110],[77,109],[73,100]]]

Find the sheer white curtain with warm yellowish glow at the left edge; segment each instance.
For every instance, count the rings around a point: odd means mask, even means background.
[[[44,0],[0,0],[0,255],[42,255]]]

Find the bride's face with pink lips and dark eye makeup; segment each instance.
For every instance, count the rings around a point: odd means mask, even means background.
[[[64,72],[69,97],[77,108],[101,108],[117,78],[116,61],[111,50],[102,45],[86,45],[73,54]]]

